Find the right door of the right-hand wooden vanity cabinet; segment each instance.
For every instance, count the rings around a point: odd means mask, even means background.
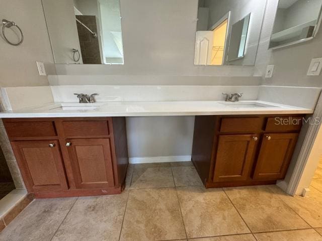
[[[294,151],[297,136],[297,133],[264,134],[253,179],[283,179]]]

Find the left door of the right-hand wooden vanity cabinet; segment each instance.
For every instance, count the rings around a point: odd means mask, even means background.
[[[250,175],[256,135],[219,136],[214,182],[243,181]]]

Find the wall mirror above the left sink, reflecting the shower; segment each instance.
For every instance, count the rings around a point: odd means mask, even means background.
[[[42,0],[56,64],[123,64],[119,0]]]

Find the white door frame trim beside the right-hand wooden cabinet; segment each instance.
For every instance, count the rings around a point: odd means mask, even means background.
[[[304,123],[298,138],[299,141],[297,142],[295,147],[295,155],[293,155],[291,159],[291,163],[295,162],[295,166],[293,172],[290,174],[290,179],[288,182],[285,181],[285,179],[277,182],[277,185],[291,196],[294,196],[296,193],[302,193],[303,191],[298,190],[298,186],[303,176],[305,166],[308,163],[308,159],[316,140],[316,136],[322,124],[322,94],[319,96],[314,112],[310,117],[313,119],[313,121],[314,119],[318,119],[319,124],[309,125],[309,123]],[[303,140],[303,142],[300,141],[301,139]],[[289,173],[287,173],[287,176],[288,174]]]

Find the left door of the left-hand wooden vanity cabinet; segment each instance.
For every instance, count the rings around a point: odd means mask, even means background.
[[[68,189],[57,141],[19,141],[12,146],[29,192]]]

